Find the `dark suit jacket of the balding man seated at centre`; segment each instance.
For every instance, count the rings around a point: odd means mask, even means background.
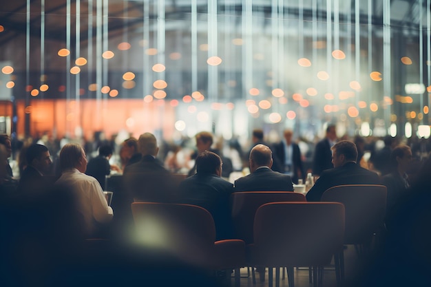
[[[293,191],[290,176],[266,167],[235,180],[235,192],[238,191]]]

